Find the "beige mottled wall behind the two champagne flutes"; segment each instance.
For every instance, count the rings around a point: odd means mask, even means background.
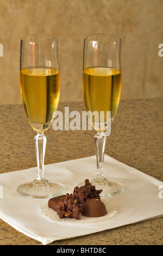
[[[0,0],[0,104],[21,103],[20,38],[59,36],[60,101],[80,101],[83,39],[90,33],[122,36],[121,99],[162,96],[162,0]]]

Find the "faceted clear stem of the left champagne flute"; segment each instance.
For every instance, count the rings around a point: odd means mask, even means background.
[[[37,159],[37,178],[33,181],[33,185],[48,185],[48,181],[43,175],[43,166],[45,159],[45,149],[46,149],[46,136],[43,133],[37,133],[35,136],[35,149],[36,149],[36,159]]]

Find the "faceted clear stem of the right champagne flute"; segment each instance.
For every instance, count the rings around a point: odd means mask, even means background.
[[[103,165],[104,165],[104,153],[105,153],[105,144],[106,136],[103,132],[97,132],[94,137],[95,149],[96,149],[96,159],[97,159],[97,174],[96,180],[104,180],[103,174]]]

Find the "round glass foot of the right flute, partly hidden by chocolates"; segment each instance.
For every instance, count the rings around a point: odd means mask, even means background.
[[[95,185],[96,190],[103,190],[102,193],[99,194],[100,197],[114,197],[124,191],[124,187],[121,183],[108,181],[105,178],[103,180],[93,179],[91,184]]]

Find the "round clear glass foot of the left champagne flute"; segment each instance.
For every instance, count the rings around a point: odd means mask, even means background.
[[[48,182],[48,185],[34,185],[34,183],[24,183],[17,187],[17,193],[29,198],[57,197],[65,192],[65,187],[58,182]]]

